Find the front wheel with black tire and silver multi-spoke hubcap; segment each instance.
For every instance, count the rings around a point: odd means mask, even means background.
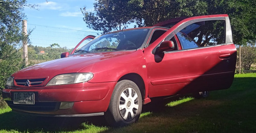
[[[142,97],[139,87],[130,80],[119,81],[111,96],[105,119],[111,126],[125,126],[139,120]]]

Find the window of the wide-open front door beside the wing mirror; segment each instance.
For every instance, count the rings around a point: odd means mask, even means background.
[[[229,20],[227,23],[229,23]],[[232,42],[231,28],[226,26],[226,19],[197,21],[182,27],[181,25],[180,28],[169,34],[165,40],[170,40],[170,38],[177,35],[179,40],[182,41],[183,49],[209,47]],[[226,34],[226,30],[228,30],[228,34]],[[184,35],[181,35],[180,32]]]

